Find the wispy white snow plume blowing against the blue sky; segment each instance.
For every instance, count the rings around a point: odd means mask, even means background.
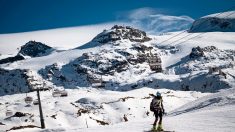
[[[149,34],[186,30],[191,27],[194,21],[189,16],[170,16],[163,15],[163,13],[162,10],[140,8],[119,17],[123,17],[125,22],[131,23]]]

